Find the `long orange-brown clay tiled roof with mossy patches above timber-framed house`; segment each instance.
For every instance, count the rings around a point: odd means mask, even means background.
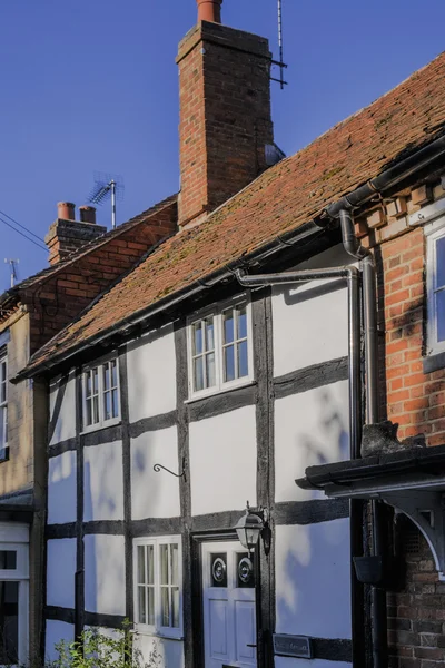
[[[205,223],[155,249],[31,358],[32,373],[171,298],[325,207],[445,130],[445,52],[390,92],[280,161]]]

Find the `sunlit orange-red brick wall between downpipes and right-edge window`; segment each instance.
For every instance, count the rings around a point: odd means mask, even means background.
[[[445,370],[425,374],[426,326],[424,230],[382,243],[380,308],[385,314],[387,418],[400,439],[425,433],[428,445],[445,443]]]

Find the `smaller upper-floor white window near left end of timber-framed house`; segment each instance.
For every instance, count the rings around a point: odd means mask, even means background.
[[[120,419],[117,358],[90,366],[82,376],[83,429],[108,426]]]

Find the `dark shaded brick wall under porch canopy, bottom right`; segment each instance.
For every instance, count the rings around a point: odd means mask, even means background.
[[[409,520],[403,524],[405,584],[387,597],[389,668],[438,668],[445,665],[445,582],[426,540]]]

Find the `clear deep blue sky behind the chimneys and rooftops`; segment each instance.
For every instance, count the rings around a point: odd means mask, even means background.
[[[276,0],[224,0],[224,22],[268,37]],[[290,155],[444,49],[443,0],[283,0],[285,91],[273,84],[277,144]],[[119,174],[118,222],[178,189],[177,45],[195,0],[0,3],[0,209],[43,237],[56,203],[86,203],[96,170]],[[109,224],[109,209],[98,222]],[[0,223],[20,278],[43,250]]]

